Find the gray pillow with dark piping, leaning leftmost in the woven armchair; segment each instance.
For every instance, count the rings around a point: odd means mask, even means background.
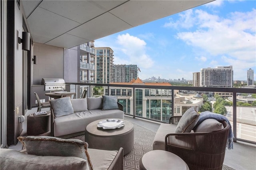
[[[180,121],[176,127],[175,133],[187,133],[196,126],[199,121],[199,114],[194,107],[189,108],[184,115],[180,118]]]

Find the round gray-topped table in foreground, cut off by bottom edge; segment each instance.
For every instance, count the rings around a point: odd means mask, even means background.
[[[189,170],[182,158],[165,150],[152,150],[140,159],[140,170]]]

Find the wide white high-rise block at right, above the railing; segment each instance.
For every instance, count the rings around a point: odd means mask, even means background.
[[[232,65],[200,70],[200,87],[232,87]]]

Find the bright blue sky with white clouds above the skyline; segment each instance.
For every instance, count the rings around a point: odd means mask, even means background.
[[[256,0],[216,0],[95,40],[114,64],[136,64],[138,77],[192,80],[201,68],[233,66],[234,80],[256,80]]]

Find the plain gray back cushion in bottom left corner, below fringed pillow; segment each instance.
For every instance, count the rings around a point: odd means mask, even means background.
[[[36,156],[0,149],[1,170],[89,170],[85,159],[74,156]]]

